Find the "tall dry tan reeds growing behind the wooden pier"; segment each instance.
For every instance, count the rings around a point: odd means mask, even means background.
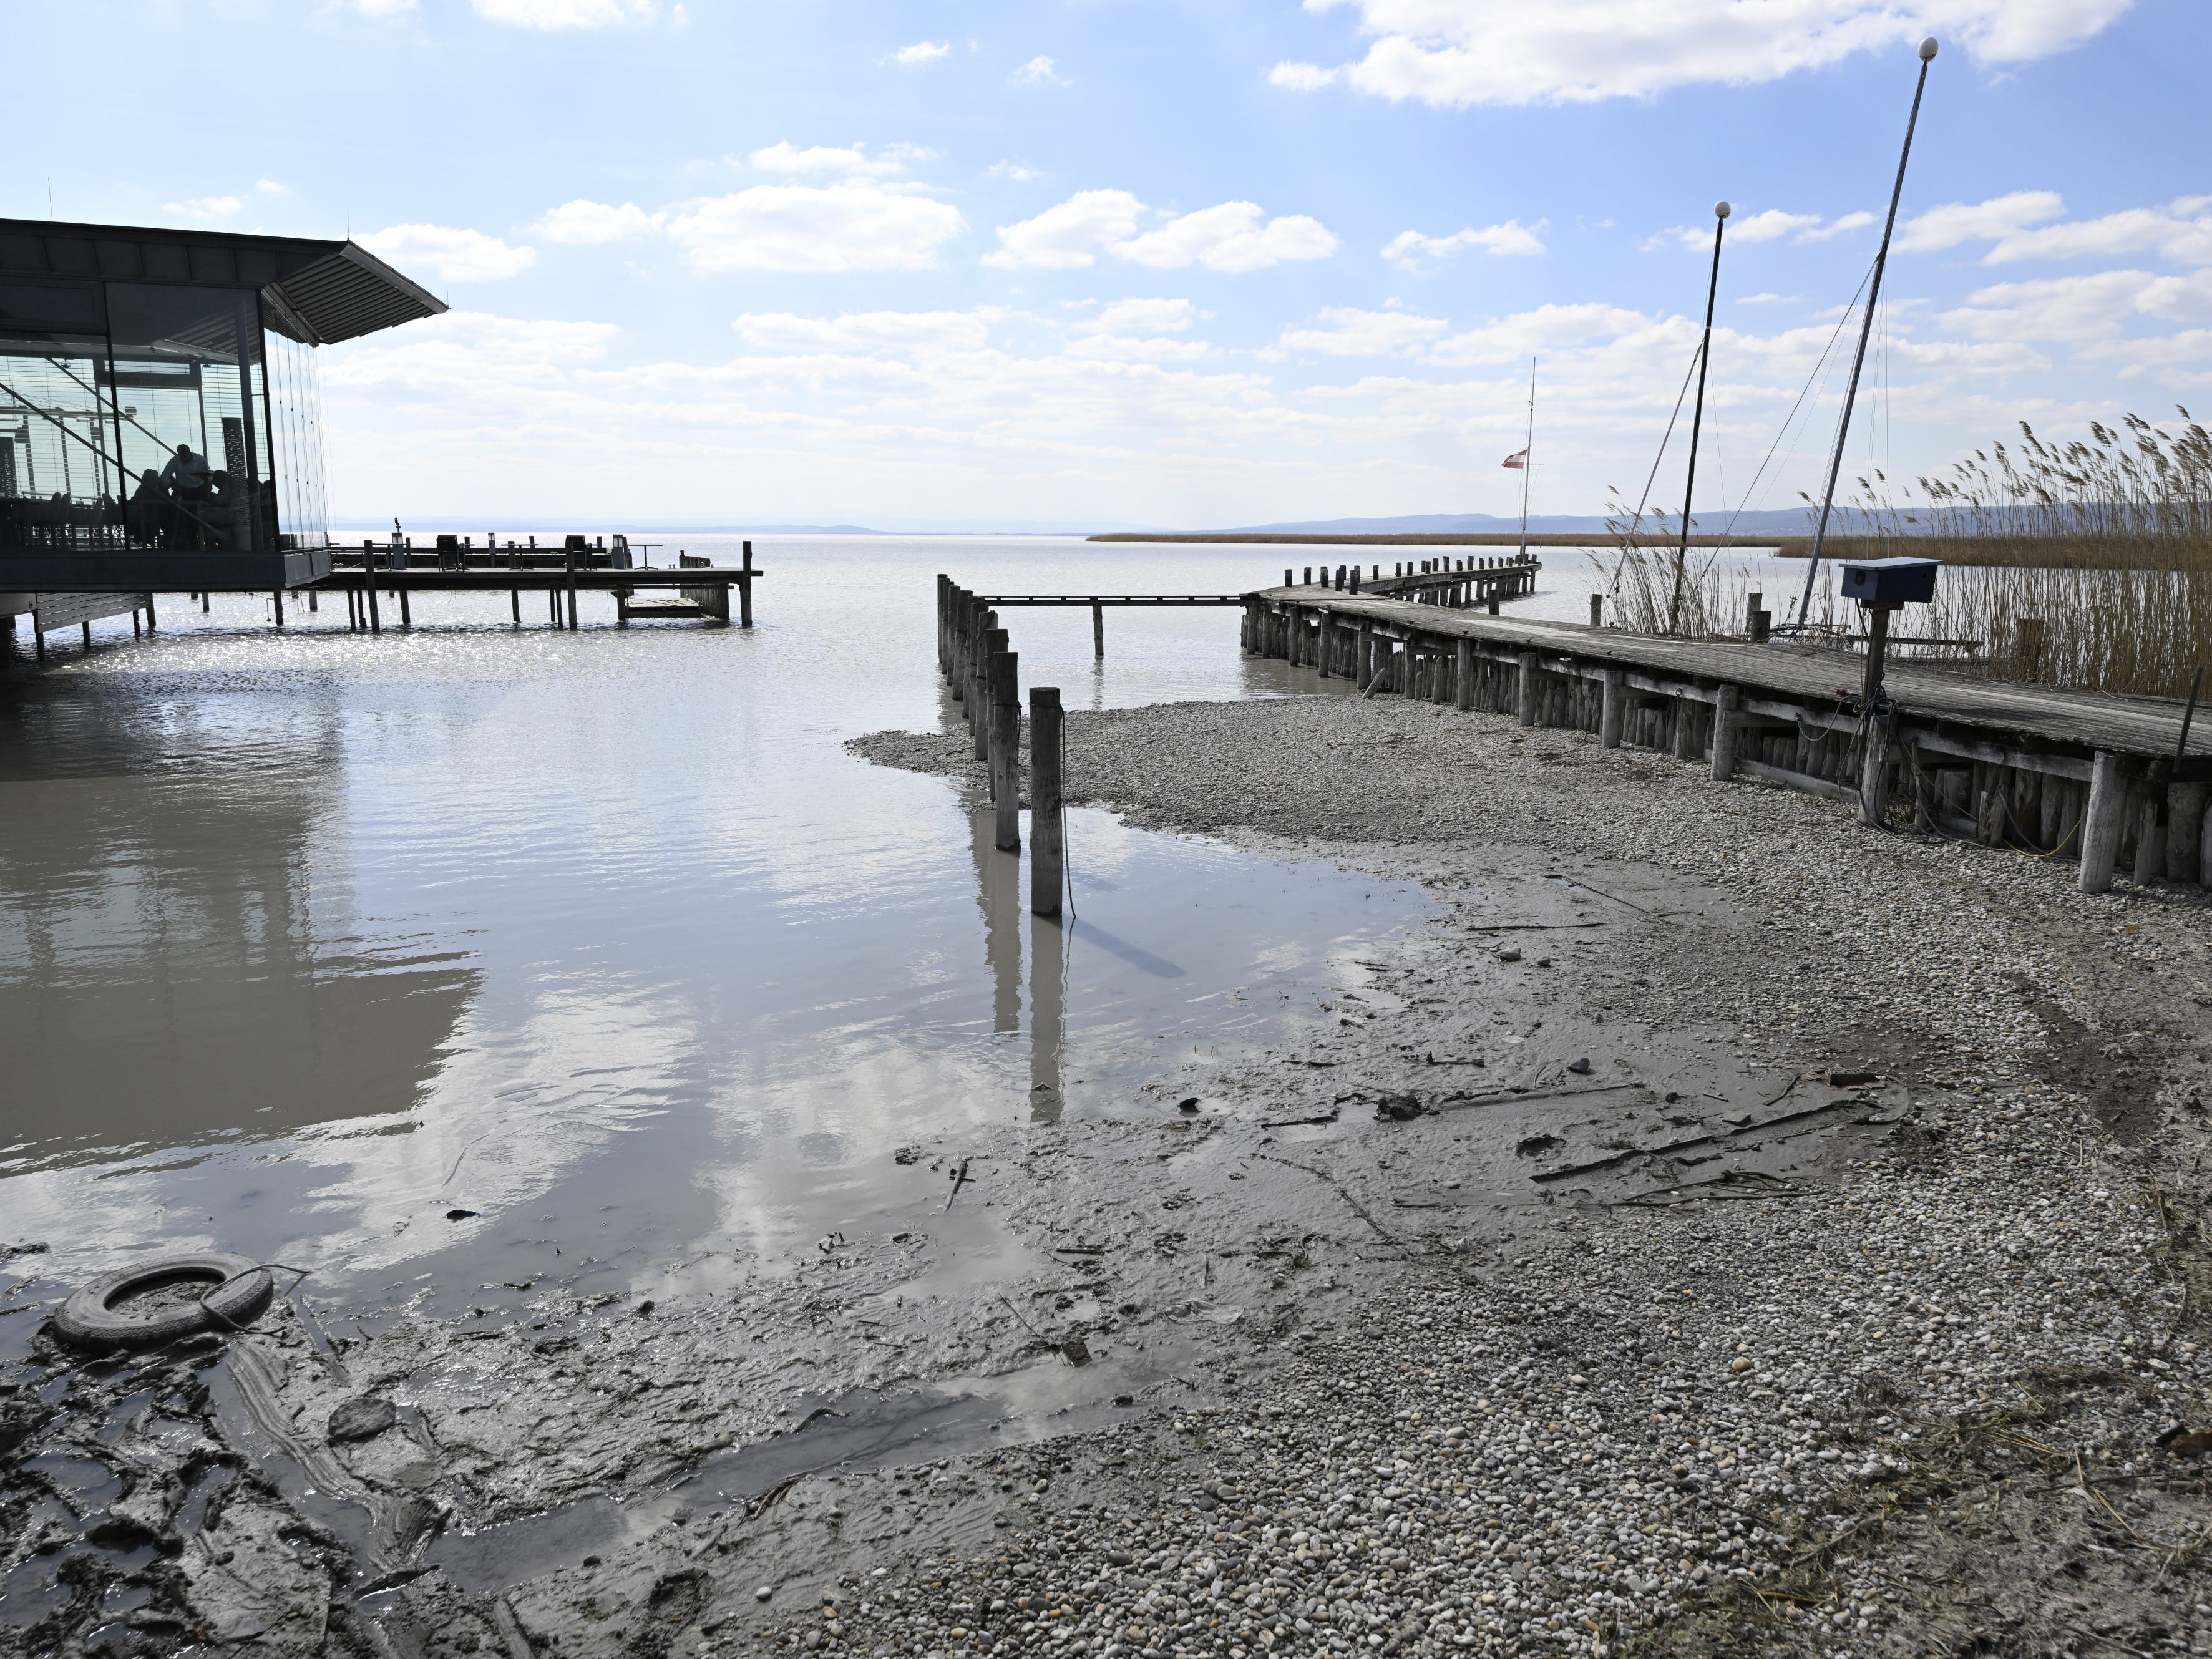
[[[2126,416],[2086,442],[2020,425],[1949,476],[1898,489],[1858,480],[1854,533],[1829,557],[1938,557],[1936,602],[1905,619],[1916,655],[2000,679],[2141,697],[2185,697],[2212,664],[2212,434],[2181,409],[2174,429]],[[1867,533],[1860,533],[1865,526]],[[1606,564],[1619,626],[1741,637],[1743,577],[1708,553],[1637,549],[1619,518]],[[1798,551],[1807,544],[1792,544]],[[1834,593],[1809,617],[1836,639]],[[1849,622],[1856,622],[1851,617]],[[1856,628],[1851,628],[1856,633]]]

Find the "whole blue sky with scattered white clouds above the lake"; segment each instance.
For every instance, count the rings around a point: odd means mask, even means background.
[[[0,217],[352,234],[336,518],[1223,526],[1818,491],[2212,403],[2203,0],[0,0]],[[2194,407],[2194,405],[2192,405]],[[1657,462],[1657,471],[1655,471]]]

